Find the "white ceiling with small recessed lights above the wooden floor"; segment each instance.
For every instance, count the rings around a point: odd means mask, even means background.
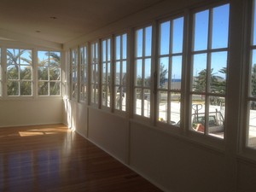
[[[64,44],[162,0],[1,0],[0,39]]]

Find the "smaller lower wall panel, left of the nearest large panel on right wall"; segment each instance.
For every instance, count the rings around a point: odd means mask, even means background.
[[[88,138],[123,163],[128,158],[129,122],[122,117],[89,108]]]

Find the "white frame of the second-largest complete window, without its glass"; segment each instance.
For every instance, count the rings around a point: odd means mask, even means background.
[[[181,51],[177,52],[177,53],[173,53],[172,52],[172,45],[173,45],[173,27],[174,27],[174,20],[177,19],[182,19],[183,18],[183,36],[182,36],[182,40],[183,40],[183,44],[181,45]],[[161,24],[164,24],[166,22],[170,22],[170,33],[169,33],[169,51],[166,54],[161,54],[160,53],[160,39],[161,39],[161,32],[160,32],[160,26]],[[166,129],[170,129],[170,126],[172,126],[174,128],[175,131],[177,131],[177,128],[180,127],[181,125],[181,121],[183,119],[183,111],[182,106],[183,106],[183,96],[185,95],[184,93],[184,86],[183,86],[183,81],[184,81],[184,43],[185,43],[185,16],[184,15],[175,15],[172,16],[171,18],[167,18],[165,20],[160,20],[160,22],[158,23],[158,29],[159,29],[159,35],[158,35],[158,49],[157,49],[157,82],[156,82],[156,94],[157,94],[157,100],[156,100],[156,125],[162,128],[166,128]],[[174,85],[172,86],[172,58],[175,57],[181,57],[181,82],[179,82],[180,84],[180,88],[179,89],[175,89]],[[160,87],[160,65],[161,62],[160,60],[163,58],[168,58],[168,71],[167,71],[167,75],[168,75],[168,86],[166,88],[161,88]],[[173,78],[175,79],[175,77]],[[166,92],[166,101],[167,101],[167,106],[166,106],[166,119],[162,119],[160,117],[160,92]],[[172,94],[180,94],[179,98],[177,98],[179,100],[179,106],[180,106],[180,111],[179,111],[179,120],[177,120],[175,123],[173,122],[173,119],[171,117],[172,114]],[[175,113],[175,112],[174,112]]]

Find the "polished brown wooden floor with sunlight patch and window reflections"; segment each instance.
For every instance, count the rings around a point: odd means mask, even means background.
[[[0,128],[1,192],[157,192],[64,125]]]

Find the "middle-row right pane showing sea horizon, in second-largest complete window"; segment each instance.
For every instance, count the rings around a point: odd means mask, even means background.
[[[181,90],[182,80],[182,56],[172,56],[172,90]]]

